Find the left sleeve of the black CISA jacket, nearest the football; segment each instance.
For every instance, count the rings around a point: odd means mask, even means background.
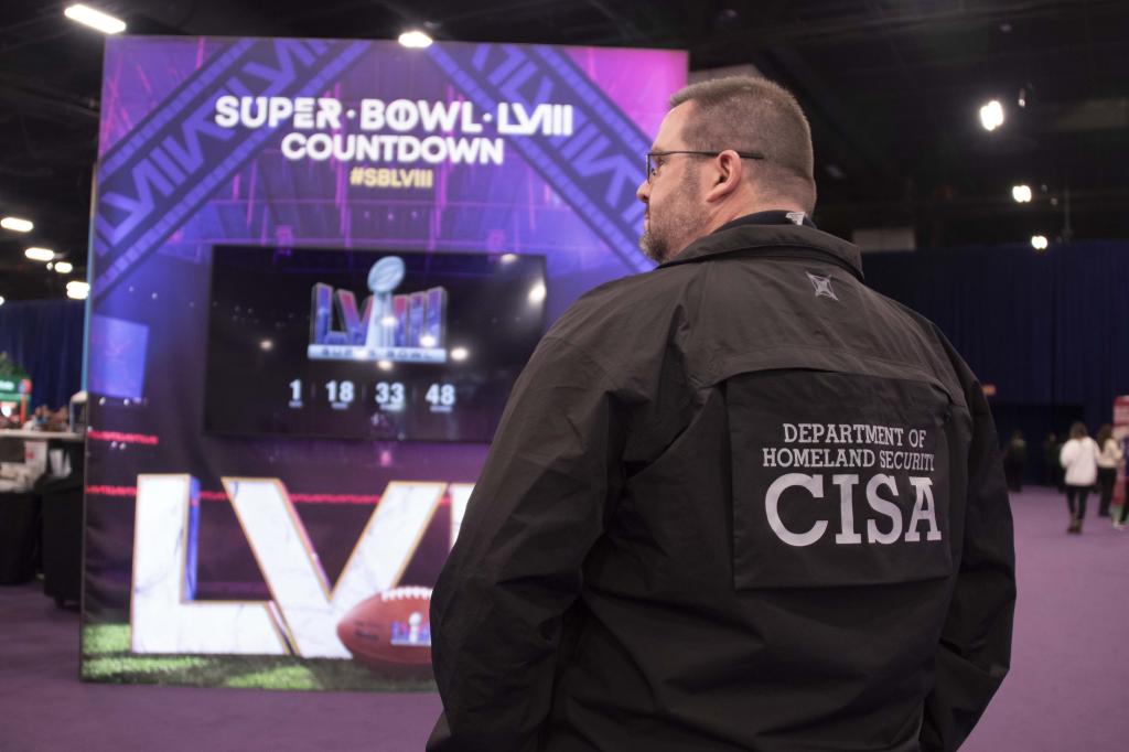
[[[618,493],[621,421],[603,370],[546,338],[514,387],[431,600],[444,715],[428,750],[532,750],[562,617]]]

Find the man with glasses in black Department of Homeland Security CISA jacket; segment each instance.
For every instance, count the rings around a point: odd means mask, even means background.
[[[446,750],[954,750],[1007,672],[988,405],[821,233],[760,79],[672,99],[653,272],[593,290],[513,395],[435,589]]]

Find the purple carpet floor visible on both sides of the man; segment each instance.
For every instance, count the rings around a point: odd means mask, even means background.
[[[1094,510],[1067,536],[1044,489],[1013,500],[1019,571],[1012,673],[963,750],[1129,750],[1129,531]],[[435,694],[81,683],[78,614],[0,587],[0,751],[421,750]]]

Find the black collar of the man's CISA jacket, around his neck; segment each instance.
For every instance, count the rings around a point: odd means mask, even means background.
[[[858,246],[803,225],[755,225],[732,222],[700,237],[659,269],[707,261],[725,254],[822,257],[842,266],[863,280],[863,259]]]

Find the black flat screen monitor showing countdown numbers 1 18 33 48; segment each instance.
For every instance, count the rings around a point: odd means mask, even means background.
[[[204,431],[489,441],[544,299],[543,256],[217,245]]]

